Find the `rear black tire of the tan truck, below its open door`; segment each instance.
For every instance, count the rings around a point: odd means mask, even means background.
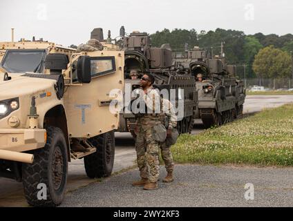
[[[114,132],[104,133],[88,140],[97,151],[84,157],[86,175],[90,178],[108,177],[111,175],[115,157]]]

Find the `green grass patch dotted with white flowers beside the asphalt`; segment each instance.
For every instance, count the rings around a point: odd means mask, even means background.
[[[293,104],[181,135],[171,150],[177,163],[293,166]]]

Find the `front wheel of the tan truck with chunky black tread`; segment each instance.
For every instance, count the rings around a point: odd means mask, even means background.
[[[46,129],[46,145],[31,152],[35,157],[32,164],[22,166],[24,194],[31,206],[59,206],[66,192],[68,172],[66,140],[60,128],[49,126]],[[40,191],[46,192],[46,199],[38,199]]]

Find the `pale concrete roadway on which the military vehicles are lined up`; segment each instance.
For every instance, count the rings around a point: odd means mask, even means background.
[[[293,102],[292,95],[247,96],[245,99],[244,113],[254,113],[262,111],[263,108],[274,108],[289,102]],[[192,134],[196,135],[202,130],[202,122],[197,120]],[[134,143],[130,133],[115,133],[115,137],[116,151],[113,171],[121,171],[122,169],[133,166],[133,162],[135,161]],[[81,186],[95,182],[95,180],[86,177],[83,160],[70,162],[68,171],[68,192],[75,191]],[[0,206],[27,206],[26,200],[23,197],[21,183],[0,177]]]

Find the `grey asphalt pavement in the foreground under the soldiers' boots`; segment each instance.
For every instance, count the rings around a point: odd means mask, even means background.
[[[174,173],[174,182],[144,191],[131,186],[138,171],[128,171],[66,195],[62,206],[293,206],[292,168],[176,165]],[[160,180],[164,175],[161,166]],[[247,183],[254,200],[245,200]]]

